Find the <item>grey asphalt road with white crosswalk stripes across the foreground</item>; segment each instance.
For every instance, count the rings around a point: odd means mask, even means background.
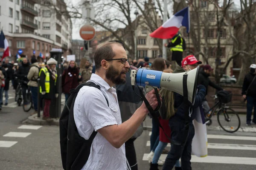
[[[10,94],[12,96],[12,93]],[[12,103],[11,100],[9,103]],[[8,106],[3,107],[0,112],[0,170],[61,170],[59,128],[22,126],[21,122],[29,114],[30,112],[23,112],[22,107]],[[149,140],[150,132],[144,130],[135,141],[139,170],[149,170],[149,163],[146,160],[150,151],[150,146],[147,144]],[[162,155],[160,159],[164,160],[165,157],[166,155]],[[192,168],[193,170],[255,170],[256,133],[230,134],[221,130],[209,130],[208,156],[205,158],[192,156]]]

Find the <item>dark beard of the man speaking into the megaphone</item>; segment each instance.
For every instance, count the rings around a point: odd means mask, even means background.
[[[106,72],[106,78],[111,80],[111,82],[116,85],[125,84],[126,79],[122,79],[121,74],[122,72],[119,74],[118,70],[116,70],[113,65],[111,65]]]

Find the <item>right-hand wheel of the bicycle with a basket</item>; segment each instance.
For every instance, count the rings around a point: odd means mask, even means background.
[[[226,132],[234,133],[239,130],[241,125],[239,115],[231,108],[219,110],[217,119],[221,128]],[[227,125],[224,123],[227,123]]]

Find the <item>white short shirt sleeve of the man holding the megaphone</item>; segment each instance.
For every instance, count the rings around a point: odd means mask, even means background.
[[[113,116],[113,111],[108,107],[105,96],[102,92],[94,87],[86,87],[81,97],[82,110],[97,131],[102,127],[109,125],[117,125],[116,118]],[[106,96],[107,97],[107,96]]]

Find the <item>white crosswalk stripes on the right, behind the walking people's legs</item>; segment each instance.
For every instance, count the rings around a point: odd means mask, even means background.
[[[151,136],[151,132],[149,133],[149,136]],[[192,155],[191,162],[256,165],[255,136],[229,136],[209,134],[207,135],[207,138],[208,156],[201,158]],[[150,141],[147,141],[146,146],[150,147]],[[168,144],[167,147],[171,149],[170,144]],[[243,152],[243,150],[245,152]],[[240,152],[243,154],[240,154]],[[246,154],[246,152],[250,152],[250,154]],[[237,155],[233,155],[233,153],[236,153]],[[148,161],[147,156],[148,153],[144,153],[143,161]],[[162,154],[160,156],[160,160],[165,160],[166,156],[167,154]]]

